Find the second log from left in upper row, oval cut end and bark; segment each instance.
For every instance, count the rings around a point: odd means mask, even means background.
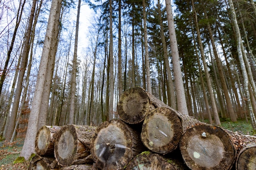
[[[56,133],[54,155],[61,166],[91,162],[90,142],[96,127],[86,125],[62,126]]]

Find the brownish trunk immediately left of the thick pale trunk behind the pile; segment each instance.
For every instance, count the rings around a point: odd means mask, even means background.
[[[169,65],[169,60],[168,60],[168,55],[167,55],[167,48],[166,48],[166,40],[164,36],[164,26],[162,23],[162,16],[161,16],[161,9],[160,9],[160,1],[157,1],[157,8],[158,8],[158,17],[159,17],[159,25],[160,25],[160,33],[161,33],[161,41],[162,41],[162,46],[163,46],[163,51],[164,51],[164,64],[166,67],[166,72],[167,72],[167,80],[168,80],[168,86],[169,87],[169,92],[171,93],[171,96],[168,96],[168,103],[171,103],[170,107],[173,109],[176,109],[176,100],[175,100],[175,90],[173,86],[173,78],[171,75],[171,68]],[[171,100],[171,101],[169,101]]]

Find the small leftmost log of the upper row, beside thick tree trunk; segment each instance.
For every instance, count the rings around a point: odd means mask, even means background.
[[[41,156],[54,155],[54,136],[60,129],[60,126],[42,126],[38,130],[35,140],[36,154]]]

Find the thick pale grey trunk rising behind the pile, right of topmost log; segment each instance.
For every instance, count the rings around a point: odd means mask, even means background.
[[[177,45],[177,38],[175,33],[175,26],[173,20],[173,12],[171,9],[171,1],[165,0],[166,4],[166,13],[168,21],[168,30],[171,43],[171,52],[172,52],[172,62],[173,62],[173,73],[175,78],[175,88],[177,94],[177,109],[184,115],[189,115],[187,105],[186,105],[186,96],[182,80],[182,72],[180,68],[180,57]]]

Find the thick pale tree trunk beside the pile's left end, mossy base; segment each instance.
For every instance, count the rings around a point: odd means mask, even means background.
[[[36,0],[35,0],[36,1]],[[29,123],[27,128],[27,134],[25,137],[25,142],[20,153],[20,157],[24,157],[26,160],[29,159],[30,155],[35,152],[35,139],[38,128],[38,117],[40,111],[40,104],[43,96],[43,87],[45,83],[45,73],[47,70],[48,58],[51,54],[51,50],[54,47],[52,41],[55,37],[55,33],[58,32],[59,18],[61,12],[61,2],[62,0],[53,0],[52,6],[49,14],[49,20],[47,24],[47,31],[45,35],[45,42],[42,51],[42,57],[38,70],[38,77],[36,81],[35,94],[31,106],[31,113],[29,116]],[[45,113],[46,114],[46,113]]]

